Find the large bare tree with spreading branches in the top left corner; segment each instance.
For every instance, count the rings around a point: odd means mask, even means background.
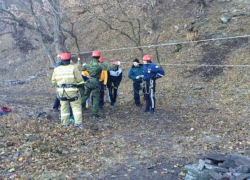
[[[64,14],[60,2],[62,1],[0,0],[0,22],[11,27],[25,28],[33,33],[48,55],[51,65],[55,64],[56,53],[67,51],[65,31],[62,28]],[[69,32],[74,35],[73,31]]]

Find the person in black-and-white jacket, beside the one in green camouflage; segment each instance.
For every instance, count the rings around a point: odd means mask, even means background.
[[[117,97],[118,97],[118,87],[122,81],[122,69],[117,66],[114,70],[108,72],[108,100],[110,102],[111,108],[115,108]]]

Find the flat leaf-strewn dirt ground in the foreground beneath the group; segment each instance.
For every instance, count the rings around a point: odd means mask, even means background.
[[[49,111],[55,89],[47,77],[2,87],[12,112],[0,117],[0,179],[184,179],[184,166],[206,154],[250,154],[249,123],[216,108],[214,87],[189,84],[194,96],[177,96],[165,81],[150,115],[134,106],[124,78],[117,108],[106,102],[100,119],[84,111],[82,130],[62,128]]]

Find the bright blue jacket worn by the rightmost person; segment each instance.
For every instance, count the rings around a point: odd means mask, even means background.
[[[144,66],[144,74],[143,74],[144,81],[148,81],[150,78],[158,79],[165,75],[164,70],[160,66],[154,63],[144,64],[143,66]]]

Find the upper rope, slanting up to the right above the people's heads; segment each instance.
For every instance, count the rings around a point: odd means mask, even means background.
[[[242,35],[242,36],[231,36],[231,37],[223,37],[223,38],[212,38],[212,39],[204,39],[199,41],[180,41],[180,42],[173,42],[173,43],[163,43],[163,44],[151,44],[146,46],[131,46],[131,47],[123,47],[117,49],[102,49],[99,50],[100,52],[110,52],[110,51],[122,51],[122,50],[131,50],[131,49],[138,49],[138,48],[151,48],[151,47],[159,47],[159,46],[172,46],[177,44],[190,44],[190,43],[199,43],[199,42],[208,42],[208,41],[218,41],[218,40],[228,40],[228,39],[238,39],[238,38],[246,38],[250,37],[250,35]],[[89,54],[92,51],[85,51],[79,53],[72,53],[74,55],[77,54]]]

